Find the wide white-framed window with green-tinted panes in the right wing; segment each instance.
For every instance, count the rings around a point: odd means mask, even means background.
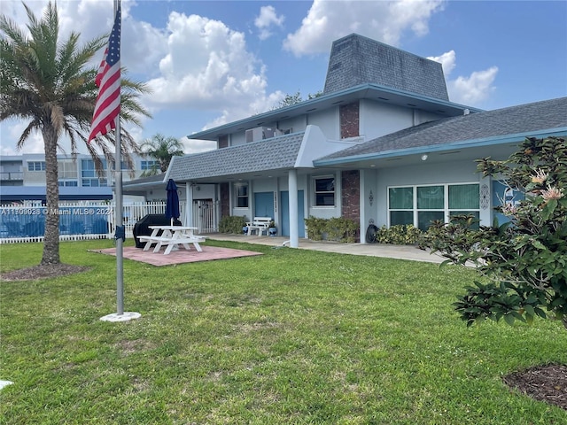
[[[478,183],[388,188],[390,226],[412,224],[427,230],[431,221],[460,214],[480,217]]]

